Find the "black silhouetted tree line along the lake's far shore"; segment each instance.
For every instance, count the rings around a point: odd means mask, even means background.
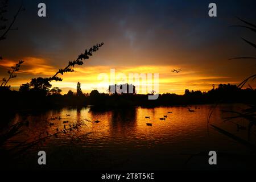
[[[128,85],[128,84],[124,84]],[[128,87],[128,86],[127,86]],[[119,107],[154,107],[191,104],[212,104],[218,100],[233,103],[255,103],[255,89],[242,89],[232,84],[220,84],[208,92],[186,89],[183,95],[174,93],[159,94],[157,100],[148,100],[148,94],[134,93],[99,93],[92,90],[90,93],[82,93],[81,83],[77,83],[77,91],[69,90],[67,94],[61,94],[60,88],[51,88],[48,80],[44,78],[32,78],[28,84],[20,86],[19,91],[0,89],[1,102],[5,109],[10,107],[13,111],[23,109],[51,109],[63,106],[93,105],[95,109],[115,109]],[[133,85],[135,91],[135,86]],[[150,93],[153,94],[153,93]]]

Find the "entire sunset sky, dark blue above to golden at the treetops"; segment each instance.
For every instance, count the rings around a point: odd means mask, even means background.
[[[10,0],[13,17],[22,1]],[[47,17],[37,15],[38,3],[47,6]],[[256,2],[214,1],[217,17],[208,16],[213,1],[29,1],[7,39],[0,42],[0,76],[11,65],[24,64],[13,89],[34,77],[54,75],[68,61],[97,43],[104,46],[75,72],[51,82],[66,93],[81,82],[84,92],[106,92],[100,73],[159,73],[159,92],[183,94],[185,89],[210,90],[212,84],[237,84],[255,73],[255,60],[229,60],[256,56],[241,38],[255,42],[250,30],[229,27],[243,24],[236,16],[255,24]],[[179,69],[172,73],[172,69]],[[133,83],[131,83],[133,84]]]

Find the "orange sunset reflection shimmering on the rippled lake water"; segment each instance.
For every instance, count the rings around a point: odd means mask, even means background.
[[[224,105],[220,108],[229,107],[233,106]],[[49,135],[54,134],[56,129],[63,130],[64,125],[66,125],[67,132],[58,134],[57,138],[46,139],[46,145],[51,145],[52,142],[70,143],[72,139],[74,139],[73,142],[80,143],[86,147],[110,148],[119,145],[123,148],[145,146],[151,148],[159,144],[176,143],[180,146],[183,142],[204,143],[204,137],[207,136],[206,118],[209,106],[201,105],[199,108],[195,113],[190,113],[187,107],[178,106],[155,107],[152,109],[138,107],[100,112],[89,111],[89,107],[84,109],[66,108],[50,110],[44,114],[16,114],[13,122],[19,121],[20,118],[26,118],[30,122],[30,127],[24,132],[26,133],[25,135],[18,135],[15,139],[22,140],[29,137],[29,141],[34,140],[34,137],[39,135],[40,137],[46,137],[47,132]],[[168,113],[169,111],[172,111],[172,113]],[[70,116],[67,116],[67,114],[70,114]],[[163,115],[167,115],[167,118],[164,121],[160,121],[159,118],[163,117]],[[145,116],[150,116],[150,118],[145,118]],[[61,119],[51,120],[51,118],[55,117],[60,117]],[[221,123],[224,128],[229,130],[232,127],[236,129],[236,126],[229,125],[229,123],[223,125],[221,117],[224,117],[221,111],[216,110],[213,113],[214,123]],[[69,124],[72,126],[73,123],[79,120],[85,121],[86,125],[77,130],[69,131]],[[100,122],[94,123],[93,121],[96,120]],[[63,121],[68,121],[68,123],[63,123]],[[49,126],[49,122],[54,123],[54,125]],[[152,126],[147,126],[146,123],[152,123]],[[246,137],[246,132],[237,134],[241,137]],[[220,136],[216,135],[216,137]],[[226,139],[222,142],[225,141]]]

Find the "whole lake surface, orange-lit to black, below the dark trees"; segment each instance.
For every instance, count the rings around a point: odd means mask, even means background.
[[[255,167],[255,162],[246,160],[248,156],[254,155],[253,151],[212,128],[207,132],[207,116],[211,105],[190,107],[195,112],[189,112],[187,106],[120,108],[110,111],[90,111],[90,107],[84,107],[16,114],[11,123],[28,121],[28,126],[24,126],[22,133],[6,144],[7,149],[13,147],[16,141],[26,140],[29,143],[39,138],[45,139],[30,147],[18,162],[10,163],[10,168],[168,170]],[[241,110],[243,107],[238,104],[219,105],[210,123],[247,139],[247,130],[237,131],[234,123],[222,119],[228,114],[221,110]],[[164,115],[167,118],[160,120]],[[100,122],[94,122],[97,120]],[[77,121],[82,121],[83,125],[73,127]],[[245,127],[248,124],[242,119],[233,122]],[[61,132],[64,125],[67,129],[65,133]],[[69,129],[69,125],[72,129]],[[255,143],[255,130],[251,137]],[[37,163],[39,150],[46,151],[46,166]],[[217,156],[218,152],[227,152],[238,157],[219,155],[217,166],[210,166],[209,156],[196,155],[186,163],[192,154],[212,150],[217,152]]]

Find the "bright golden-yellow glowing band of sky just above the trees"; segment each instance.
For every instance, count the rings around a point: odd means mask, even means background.
[[[44,59],[25,57],[23,60],[26,61],[18,72],[18,78],[10,81],[13,87],[19,87],[34,77],[52,76],[57,71],[57,69],[48,65]],[[0,66],[8,69],[15,63],[12,60],[3,60]],[[179,73],[171,72],[172,69],[176,68],[182,68],[182,71]],[[212,84],[237,83],[234,80],[230,80],[229,77],[217,77],[201,73],[199,70],[193,69],[191,65],[141,65],[136,67],[82,65],[81,67],[76,66],[75,72],[65,73],[61,76],[63,78],[62,82],[52,81],[51,84],[53,87],[62,88],[63,94],[67,93],[69,89],[75,91],[78,81],[81,82],[81,89],[84,92],[88,93],[97,89],[99,92],[106,93],[110,84],[110,69],[115,69],[115,77],[119,73],[123,73],[127,77],[127,80],[118,80],[116,78],[115,83],[117,84],[129,82],[129,73],[159,73],[159,93],[183,94],[185,89],[207,91],[212,88]],[[100,73],[106,73],[109,76],[109,82],[102,83],[102,80],[98,80]],[[24,78],[25,75],[26,78]],[[137,85],[138,82],[129,82],[129,84]],[[147,85],[149,83],[140,81],[139,84]],[[141,93],[141,88],[137,87],[137,93]]]

